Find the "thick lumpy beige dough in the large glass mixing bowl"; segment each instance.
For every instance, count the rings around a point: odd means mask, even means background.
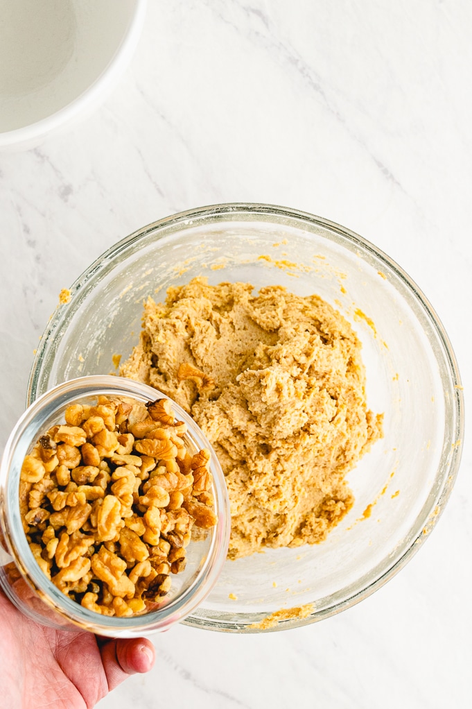
[[[212,443],[231,502],[231,559],[325,540],[352,507],[345,481],[382,435],[361,343],[319,296],[193,279],[149,298],[120,375],[156,387]]]

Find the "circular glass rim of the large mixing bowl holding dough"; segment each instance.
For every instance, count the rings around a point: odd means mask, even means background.
[[[50,323],[48,323],[31,368],[28,382],[27,403],[29,404],[34,401],[35,398],[42,393],[41,381],[43,374],[47,375],[48,364],[52,362],[55,354],[54,335],[58,328],[65,327],[65,325],[72,320],[74,303],[77,301],[78,306],[79,302],[82,302],[83,298],[86,296],[87,286],[90,284],[95,286],[101,278],[105,277],[108,272],[113,270],[113,264],[140,250],[142,242],[146,240],[147,236],[152,235],[153,240],[159,240],[169,234],[178,233],[180,230],[185,230],[189,227],[193,228],[198,225],[215,225],[215,223],[230,224],[231,222],[251,220],[266,224],[286,224],[299,229],[307,228],[310,230],[310,228],[313,229],[313,227],[321,228],[323,230],[323,238],[347,247],[352,252],[360,251],[363,256],[371,255],[376,261],[383,264],[388,272],[401,281],[403,286],[406,286],[410,298],[412,298],[412,301],[416,302],[420,311],[422,311],[422,315],[429,323],[434,335],[434,337],[428,337],[429,342],[434,349],[439,369],[442,370],[442,374],[446,374],[446,379],[448,379],[450,383],[451,396],[445,398],[444,403],[446,406],[445,415],[452,422],[450,427],[450,442],[451,446],[453,446],[453,452],[449,457],[449,462],[447,462],[443,454],[434,482],[431,486],[431,489],[434,488],[438,492],[427,520],[428,534],[420,530],[415,537],[410,539],[408,547],[405,548],[403,554],[396,562],[392,563],[391,560],[386,557],[384,560],[385,563],[378,564],[376,569],[373,569],[371,574],[369,574],[369,578],[362,577],[356,581],[355,584],[347,588],[342,588],[339,593],[333,593],[329,599],[321,599],[319,605],[322,605],[322,608],[320,608],[320,610],[316,610],[315,608],[313,613],[307,618],[284,620],[274,627],[264,629],[250,627],[247,623],[227,623],[225,620],[209,621],[208,618],[201,618],[198,617],[198,615],[190,615],[184,620],[186,625],[204,627],[211,630],[224,630],[226,632],[271,632],[274,630],[299,627],[307,625],[308,623],[315,623],[318,620],[322,620],[322,618],[329,618],[339,613],[341,610],[345,610],[355,603],[359,603],[359,601],[370,596],[371,593],[378,588],[381,588],[386,581],[393,578],[420,549],[444,510],[444,506],[449,499],[459,471],[464,432],[463,391],[454,350],[437,313],[435,313],[434,308],[432,308],[431,303],[429,303],[421,289],[415,284],[415,281],[413,281],[393,259],[390,259],[383,251],[354,231],[320,216],[315,216],[293,208],[264,203],[222,203],[179,212],[136,230],[129,236],[116,242],[116,244],[106,250],[106,252],[103,252],[74,284],[72,284],[69,303],[67,306],[58,306]],[[381,566],[383,566],[383,568],[379,568]],[[343,596],[342,601],[337,600],[336,596],[338,595]],[[254,618],[254,622],[264,617],[264,614],[254,615],[257,615],[257,618]]]

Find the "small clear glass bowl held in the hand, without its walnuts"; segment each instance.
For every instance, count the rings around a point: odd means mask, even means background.
[[[211,492],[215,498],[218,522],[202,540],[186,548],[184,571],[172,574],[172,588],[157,610],[130,618],[116,618],[83,608],[64,595],[41,571],[26,540],[18,503],[23,459],[40,435],[53,425],[64,423],[64,411],[72,403],[96,403],[101,394],[136,401],[169,398],[150,386],[116,376],[84,376],[60,384],[40,396],[23,414],[13,429],[0,467],[0,586],[10,600],[33,620],[43,625],[70,630],[90,630],[108,637],[137,637],[143,633],[167,630],[192,613],[210,593],[225,562],[230,535],[230,508],[225,479],[208,440],[193,419],[172,402],[179,420],[185,421],[183,437],[192,454],[208,448],[213,474]],[[3,535],[3,540],[1,535]]]

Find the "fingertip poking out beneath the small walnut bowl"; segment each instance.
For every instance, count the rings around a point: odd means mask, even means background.
[[[110,640],[100,652],[109,691],[131,674],[150,671],[154,664],[154,647],[144,637]]]

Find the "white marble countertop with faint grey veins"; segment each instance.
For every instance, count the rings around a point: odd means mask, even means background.
[[[218,202],[374,242],[436,308],[470,387],[471,33],[457,0],[150,0],[99,111],[0,155],[1,444],[60,289],[136,228]],[[431,538],[370,598],[269,635],[176,627],[100,708],[469,706],[471,468],[466,446]]]

